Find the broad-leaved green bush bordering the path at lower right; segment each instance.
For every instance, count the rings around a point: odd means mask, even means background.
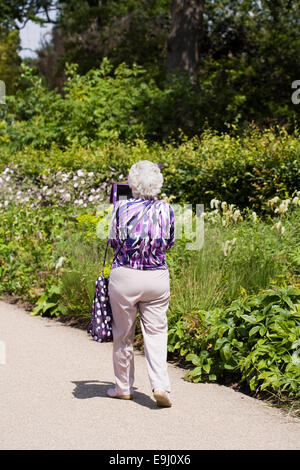
[[[187,379],[238,373],[251,390],[300,397],[299,289],[270,286],[226,309],[199,311],[194,323],[181,320],[169,335],[169,351],[179,349],[196,366]]]

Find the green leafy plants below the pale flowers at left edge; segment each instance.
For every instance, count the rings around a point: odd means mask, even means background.
[[[76,210],[79,215],[80,208]],[[11,203],[0,210],[0,293],[34,304],[58,284],[60,255],[53,248],[74,224],[73,211],[58,206],[32,208],[26,203]]]

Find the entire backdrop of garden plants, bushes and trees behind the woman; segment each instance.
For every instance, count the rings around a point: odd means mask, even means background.
[[[182,4],[182,28],[177,0],[1,4],[0,293],[85,327],[99,206],[134,162],[162,163],[161,197],[203,203],[206,221],[204,249],[167,255],[170,357],[188,380],[299,399],[300,2]],[[22,61],[29,20],[53,34]],[[195,77],[166,66],[191,28]]]

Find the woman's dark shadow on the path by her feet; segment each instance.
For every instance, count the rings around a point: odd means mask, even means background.
[[[72,392],[73,396],[79,400],[95,397],[103,397],[107,398],[108,400],[113,400],[113,398],[109,398],[106,395],[106,390],[109,387],[114,386],[112,382],[104,382],[99,380],[79,380],[72,381],[72,383],[75,385],[75,389]],[[152,400],[148,395],[142,392],[137,392],[136,388],[134,388],[134,395],[132,401],[134,401],[138,405],[150,408],[151,410],[161,409],[156,405],[156,402]]]

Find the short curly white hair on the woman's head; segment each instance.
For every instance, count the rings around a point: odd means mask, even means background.
[[[153,199],[160,193],[163,175],[156,163],[140,160],[128,173],[128,184],[134,198]]]

